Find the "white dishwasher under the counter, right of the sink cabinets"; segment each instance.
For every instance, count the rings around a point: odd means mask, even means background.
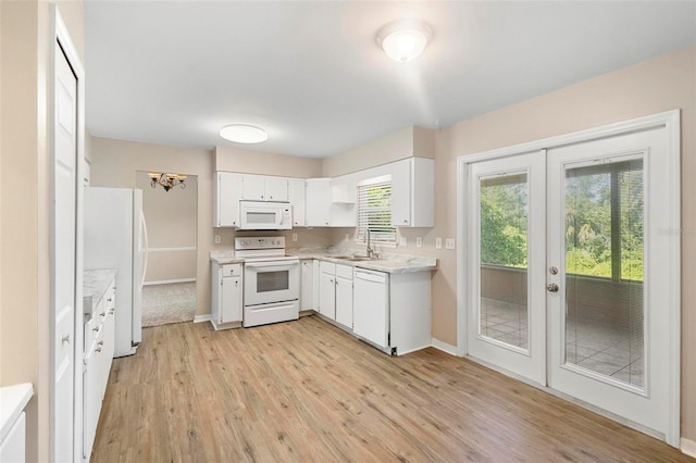
[[[389,346],[389,275],[363,268],[353,271],[352,331],[385,349]]]

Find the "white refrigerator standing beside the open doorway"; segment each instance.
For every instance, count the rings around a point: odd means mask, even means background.
[[[85,270],[116,270],[114,358],[135,353],[142,337],[147,226],[142,190],[85,188]]]

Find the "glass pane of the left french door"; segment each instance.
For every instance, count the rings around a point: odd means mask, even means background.
[[[526,174],[481,180],[481,336],[529,349]]]

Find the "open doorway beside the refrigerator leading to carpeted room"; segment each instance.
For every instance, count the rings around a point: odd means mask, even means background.
[[[148,230],[144,328],[191,322],[197,303],[198,178],[186,175],[183,184],[169,190],[152,185],[148,172],[136,173]]]

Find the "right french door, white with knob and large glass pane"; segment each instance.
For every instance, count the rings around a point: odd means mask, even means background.
[[[660,434],[670,365],[664,130],[548,152],[549,386]]]

